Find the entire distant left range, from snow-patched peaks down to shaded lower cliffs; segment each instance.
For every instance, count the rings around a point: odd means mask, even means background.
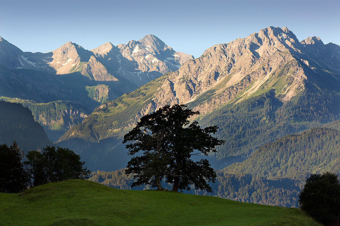
[[[175,52],[154,35],[117,46],[107,42],[90,51],[67,42],[49,53],[23,52],[0,37],[0,98],[43,112],[34,114],[35,119],[52,140],[57,140],[67,129],[81,123],[90,114],[88,109],[175,71],[188,59],[193,56]],[[66,115],[72,115],[72,109],[84,114],[66,119],[62,111],[46,112],[42,103],[52,106],[54,101],[71,101],[66,104],[68,108],[63,103],[63,111],[69,112]],[[37,110],[37,106],[44,108]],[[58,126],[57,118],[48,117],[56,114],[63,118]]]

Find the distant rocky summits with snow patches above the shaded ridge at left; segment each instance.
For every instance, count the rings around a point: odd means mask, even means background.
[[[175,52],[154,35],[117,46],[107,42],[91,51],[69,41],[49,53],[22,52],[0,38],[0,60],[7,69],[33,69],[58,75],[80,72],[96,81],[123,78],[137,87],[178,70],[189,59],[193,56]]]

